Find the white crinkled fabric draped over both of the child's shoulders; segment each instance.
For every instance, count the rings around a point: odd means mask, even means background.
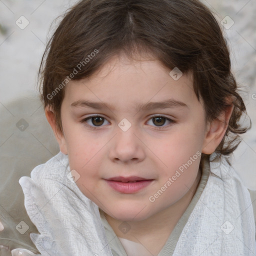
[[[223,158],[210,176],[183,228],[173,256],[255,255],[255,226],[247,189]],[[19,183],[25,208],[40,234],[31,238],[41,255],[110,256],[98,207],[67,178],[68,158],[59,152]],[[122,255],[120,255],[122,256]]]

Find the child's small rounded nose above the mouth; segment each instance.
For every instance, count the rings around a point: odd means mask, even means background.
[[[116,127],[116,135],[111,140],[108,157],[114,162],[135,163],[145,158],[145,145],[139,139],[134,125],[123,131]]]

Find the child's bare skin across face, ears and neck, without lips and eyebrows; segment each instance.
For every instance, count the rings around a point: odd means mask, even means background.
[[[169,71],[156,60],[113,56],[91,77],[66,85],[61,104],[63,133],[56,129],[50,107],[45,109],[60,150],[68,155],[70,169],[80,175],[76,181],[79,189],[106,213],[117,236],[139,241],[152,254],[160,251],[191,201],[200,178],[200,157],[154,202],[149,196],[197,151],[210,154],[215,150],[232,112],[229,107],[206,123],[203,105],[192,90],[192,76],[183,74],[175,81]],[[186,106],[135,109],[139,103],[167,99]],[[78,100],[104,102],[114,108],[71,106]],[[95,114],[105,119],[84,120]],[[173,121],[160,118],[161,126],[157,126],[154,115]],[[118,126],[123,118],[131,124],[126,131]],[[101,126],[95,126],[97,122]],[[124,194],[104,180],[131,175],[153,181],[142,190]],[[131,227],[126,234],[118,228],[123,221]]]

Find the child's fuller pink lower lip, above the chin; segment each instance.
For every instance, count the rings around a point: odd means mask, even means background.
[[[109,186],[111,186],[114,190],[120,193],[135,193],[142,188],[148,186],[153,180],[146,179],[146,180],[139,180],[136,182],[121,182],[121,181],[113,181],[113,180],[106,180]]]

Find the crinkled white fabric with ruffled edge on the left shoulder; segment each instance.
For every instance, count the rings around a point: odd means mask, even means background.
[[[36,166],[31,178],[19,179],[25,208],[40,232],[30,234],[32,241],[43,256],[112,256],[97,205],[67,174],[68,158],[59,152]]]

